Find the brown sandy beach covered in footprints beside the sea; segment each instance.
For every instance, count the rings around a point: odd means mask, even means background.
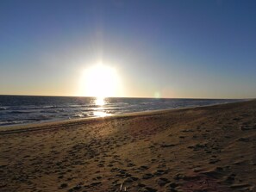
[[[0,129],[0,191],[256,191],[256,101]]]

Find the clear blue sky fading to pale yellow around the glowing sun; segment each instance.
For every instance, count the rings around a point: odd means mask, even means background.
[[[0,94],[81,96],[83,71],[101,62],[118,74],[113,96],[255,98],[255,9],[253,0],[1,0]]]

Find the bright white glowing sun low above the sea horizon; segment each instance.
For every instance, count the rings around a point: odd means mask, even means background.
[[[119,78],[115,68],[99,64],[84,70],[81,83],[80,95],[104,98],[116,96]]]

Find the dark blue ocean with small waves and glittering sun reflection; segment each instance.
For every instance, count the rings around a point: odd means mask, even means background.
[[[241,100],[0,96],[0,127],[239,101]]]

